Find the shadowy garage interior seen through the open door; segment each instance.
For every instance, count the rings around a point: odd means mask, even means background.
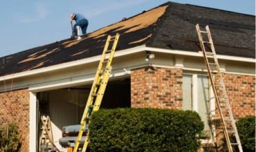
[[[91,84],[37,93],[37,149],[39,149],[39,140],[42,140],[40,138],[40,132],[42,132],[40,117],[48,115],[51,118],[53,142],[58,149],[62,149],[59,144],[62,127],[80,124],[90,91]],[[130,78],[109,80],[100,108],[126,107],[131,107]]]

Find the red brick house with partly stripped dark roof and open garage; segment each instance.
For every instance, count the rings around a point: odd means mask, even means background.
[[[0,58],[0,124],[17,122],[21,151],[37,151],[38,117],[48,113],[55,144],[78,124],[107,35],[120,33],[104,108],[194,110],[208,131],[215,103],[196,23],[210,26],[235,119],[255,115],[255,16],[179,3],[87,34]],[[149,53],[154,59],[146,59]]]

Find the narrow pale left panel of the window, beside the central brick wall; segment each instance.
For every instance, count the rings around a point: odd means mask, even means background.
[[[183,75],[183,110],[192,110],[192,75]]]

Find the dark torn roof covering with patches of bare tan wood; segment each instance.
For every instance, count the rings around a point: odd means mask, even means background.
[[[0,76],[101,55],[107,35],[120,33],[117,51],[146,45],[200,50],[196,23],[210,26],[217,54],[255,58],[255,16],[167,2],[152,10],[91,32],[0,58]]]

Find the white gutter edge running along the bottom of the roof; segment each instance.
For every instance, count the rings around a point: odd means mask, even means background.
[[[125,55],[140,53],[140,52],[144,52],[146,50],[147,51],[152,51],[152,52],[155,52],[155,53],[167,53],[167,54],[173,54],[173,55],[187,55],[187,56],[192,56],[192,57],[203,57],[203,55],[200,52],[193,53],[193,52],[187,51],[187,50],[170,50],[170,49],[163,49],[163,48],[152,48],[152,47],[147,47],[145,45],[117,51],[115,53],[115,57],[122,57],[122,56],[125,56]],[[39,73],[51,72],[51,71],[54,71],[54,70],[60,70],[60,69],[69,68],[69,67],[72,67],[72,66],[80,66],[82,64],[89,64],[89,63],[94,62],[94,61],[100,61],[100,57],[101,57],[101,55],[97,55],[97,56],[94,56],[94,57],[89,57],[89,58],[86,58],[86,59],[80,59],[80,60],[77,60],[77,61],[70,61],[70,62],[67,62],[67,63],[48,66],[48,67],[45,67],[45,68],[38,68],[38,69],[35,69],[35,70],[28,70],[28,71],[24,71],[24,72],[21,72],[21,73],[5,75],[5,76],[0,77],[0,81],[7,80],[7,79],[15,79],[15,78],[18,78],[18,77],[26,77],[26,76],[29,76],[29,75],[36,75],[36,74],[39,74]],[[218,59],[230,60],[230,61],[244,61],[244,62],[255,63],[255,59],[248,58],[248,57],[234,57],[234,56],[229,56],[229,55],[217,55],[217,58]]]

